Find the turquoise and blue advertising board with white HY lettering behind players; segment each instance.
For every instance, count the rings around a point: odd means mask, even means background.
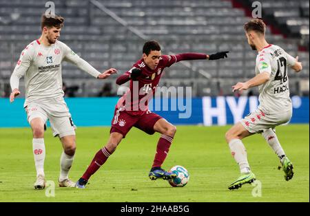
[[[76,126],[110,126],[118,98],[65,98]],[[309,124],[309,98],[293,96],[290,123]],[[0,127],[28,127],[23,98],[0,98]],[[156,98],[149,109],[175,125],[231,125],[254,111],[258,98]]]

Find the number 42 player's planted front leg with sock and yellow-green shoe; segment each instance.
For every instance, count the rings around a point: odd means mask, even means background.
[[[252,133],[249,133],[249,131],[247,131],[247,129],[245,129],[240,122],[231,127],[231,129],[229,129],[229,131],[225,134],[231,155],[239,165],[241,173],[240,177],[238,177],[236,181],[229,184],[229,190],[238,189],[242,186],[242,184],[251,183],[256,180],[254,173],[252,173],[249,168],[249,162],[247,162],[247,150],[241,141],[242,138],[251,135]]]

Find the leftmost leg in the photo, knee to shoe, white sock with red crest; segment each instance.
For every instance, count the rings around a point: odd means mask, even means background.
[[[45,188],[44,160],[44,122],[41,118],[34,118],[30,122],[32,129],[32,149],[34,155],[34,164],[37,170],[37,180],[34,182],[34,189],[41,190]]]

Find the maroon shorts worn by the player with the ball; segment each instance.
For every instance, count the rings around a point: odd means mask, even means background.
[[[121,111],[121,109],[116,108],[112,119],[110,133],[118,132],[123,134],[123,138],[125,138],[130,129],[136,127],[141,129],[141,131],[145,131],[145,133],[152,135],[155,133],[155,123],[161,118],[163,117],[158,116],[151,111],[147,111],[142,116],[132,116],[128,114],[127,111]]]

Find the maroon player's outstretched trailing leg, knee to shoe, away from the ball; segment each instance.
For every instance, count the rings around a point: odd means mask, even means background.
[[[96,155],[94,155],[94,158],[92,159],[92,162],[90,163],[90,166],[88,166],[87,170],[83,174],[83,176],[79,179],[79,181],[76,182],[77,188],[85,188],[85,185],[87,184],[90,177],[96,173],[96,171],[107,161],[107,158],[114,153],[116,150],[116,147],[123,139],[123,134],[113,132],[110,134],[110,138],[107,141],[107,144],[105,147],[100,149]]]

